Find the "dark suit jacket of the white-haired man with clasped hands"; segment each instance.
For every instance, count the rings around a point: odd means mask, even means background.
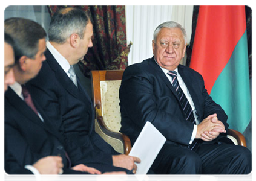
[[[205,89],[202,76],[179,65],[178,72],[194,101],[199,121],[217,113],[226,123],[227,116]],[[146,121],[151,122],[171,144],[189,145],[194,125],[185,120],[177,94],[159,65],[151,59],[128,66],[119,90],[122,116],[121,132],[134,142]]]

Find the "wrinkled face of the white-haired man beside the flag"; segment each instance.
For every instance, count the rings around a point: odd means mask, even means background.
[[[179,28],[162,28],[152,43],[156,62],[169,71],[174,71],[185,56],[186,45],[182,30]]]

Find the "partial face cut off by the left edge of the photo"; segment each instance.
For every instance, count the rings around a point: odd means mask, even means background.
[[[3,92],[8,89],[8,86],[15,82],[15,76],[13,74],[13,66],[15,63],[15,56],[13,52],[13,48],[8,43],[3,44]]]

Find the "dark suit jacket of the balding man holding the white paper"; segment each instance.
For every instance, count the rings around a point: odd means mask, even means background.
[[[94,131],[94,108],[91,98],[77,77],[78,89],[54,59],[50,51],[38,76],[28,89],[57,129],[83,148],[87,159],[112,164],[112,154],[119,154]]]

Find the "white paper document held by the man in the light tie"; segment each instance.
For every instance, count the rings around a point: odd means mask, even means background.
[[[148,173],[165,141],[165,136],[151,122],[146,122],[129,153],[130,156],[139,157],[141,160],[140,164],[136,163],[137,171],[135,176],[139,181],[142,181],[146,173]]]

